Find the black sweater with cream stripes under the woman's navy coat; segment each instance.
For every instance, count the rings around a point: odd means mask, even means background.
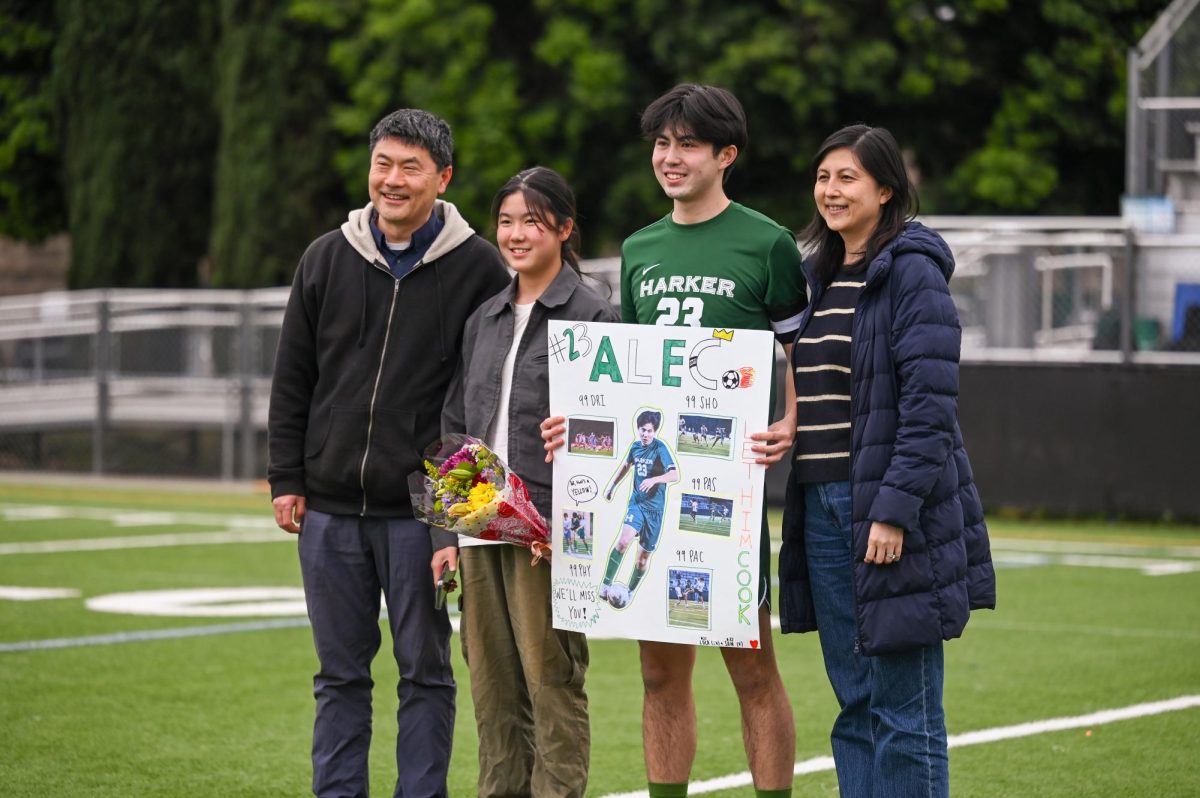
[[[800,482],[850,479],[850,341],[863,274],[840,270],[792,348]]]

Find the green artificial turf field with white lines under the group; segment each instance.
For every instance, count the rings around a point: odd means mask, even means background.
[[[65,517],[4,515],[32,508],[56,508]],[[186,523],[154,523],[144,516],[142,526],[119,526],[113,511],[175,512],[186,515]],[[0,485],[0,546],[229,528],[263,534],[271,528],[270,517],[262,493]],[[778,517],[775,522],[778,529]],[[1000,606],[976,613],[962,640],[946,649],[952,738],[1200,695],[1200,571],[1150,576],[1139,568],[1151,560],[1200,562],[1200,529],[1006,518],[994,521],[991,530]],[[1070,562],[1094,556],[1111,559]],[[40,601],[0,599],[4,644],[253,622],[102,613],[84,601],[133,590],[298,588],[300,576],[294,539],[280,532],[278,539],[263,542],[6,553],[0,556],[0,586],[80,593]],[[374,794],[390,794],[395,773],[395,664],[386,640],[385,632],[384,653],[374,664]],[[454,646],[460,690],[450,794],[470,796],[474,715],[457,637]],[[818,641],[776,634],[776,647],[796,716],[797,761],[828,756],[836,704]],[[590,650],[588,794],[642,790],[637,646],[593,641]],[[314,670],[304,626],[0,650],[2,792],[30,798],[307,794]],[[695,683],[700,742],[694,779],[745,772],[737,700],[718,650],[698,652]],[[1198,743],[1200,707],[1193,707],[954,748],[952,794],[1192,796],[1200,784]],[[830,770],[799,775],[796,794],[836,794],[836,779]]]

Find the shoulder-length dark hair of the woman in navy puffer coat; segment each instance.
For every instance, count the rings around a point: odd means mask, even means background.
[[[857,268],[865,268],[892,239],[900,235],[905,222],[917,215],[917,190],[908,182],[908,173],[904,167],[904,157],[895,138],[884,127],[868,125],[848,125],[832,134],[817,150],[809,170],[816,181],[817,170],[826,156],[834,150],[848,149],[863,164],[881,188],[890,188],[892,197],[883,204],[878,224],[866,241],[866,252],[857,262]],[[846,259],[846,244],[841,235],[829,229],[821,209],[812,214],[812,221],[800,233],[800,240],[809,248],[812,259],[814,275],[822,286],[833,282],[834,275]]]

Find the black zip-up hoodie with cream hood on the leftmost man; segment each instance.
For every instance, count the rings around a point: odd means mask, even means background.
[[[370,212],[352,211],[296,268],[271,383],[268,480],[272,497],[304,496],[323,512],[412,517],[408,475],[439,434],[463,323],[509,276],[496,247],[438,200],[445,226],[397,280]]]

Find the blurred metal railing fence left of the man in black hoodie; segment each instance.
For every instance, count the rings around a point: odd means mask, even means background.
[[[287,295],[0,300],[0,468],[258,475]]]

